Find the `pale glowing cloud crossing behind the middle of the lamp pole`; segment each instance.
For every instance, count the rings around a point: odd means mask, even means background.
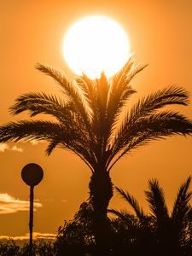
[[[34,210],[42,207],[42,204],[35,201],[33,204]],[[14,196],[7,193],[0,194],[0,214],[9,214],[15,212],[29,211],[29,201],[16,199]]]

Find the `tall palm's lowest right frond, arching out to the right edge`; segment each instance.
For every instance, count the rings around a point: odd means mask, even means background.
[[[116,157],[112,166],[125,154],[154,140],[164,139],[173,135],[190,135],[192,133],[192,122],[182,114],[176,112],[152,113],[137,122],[124,126],[124,131],[120,131],[114,138],[109,163]],[[125,133],[123,133],[125,132]]]

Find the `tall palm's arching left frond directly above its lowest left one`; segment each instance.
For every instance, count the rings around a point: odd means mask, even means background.
[[[55,96],[49,96],[44,93],[29,93],[20,96],[14,106],[10,108],[11,113],[18,114],[28,110],[31,117],[39,114],[46,113],[52,115],[59,120],[61,125],[67,127],[68,131],[79,134],[79,137],[86,141],[93,139],[90,133],[87,132],[87,127],[84,125],[82,117],[79,113],[73,110],[73,104],[70,102],[63,102]]]

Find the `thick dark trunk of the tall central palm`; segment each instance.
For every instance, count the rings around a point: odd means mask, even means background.
[[[107,217],[108,204],[113,196],[113,183],[106,169],[97,169],[90,178],[90,201],[94,209],[94,233],[96,255],[108,255],[110,222]]]

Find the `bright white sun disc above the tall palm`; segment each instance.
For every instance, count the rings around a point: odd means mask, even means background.
[[[93,15],[69,27],[62,51],[74,73],[90,79],[117,73],[129,58],[130,43],[124,29],[105,16]]]

